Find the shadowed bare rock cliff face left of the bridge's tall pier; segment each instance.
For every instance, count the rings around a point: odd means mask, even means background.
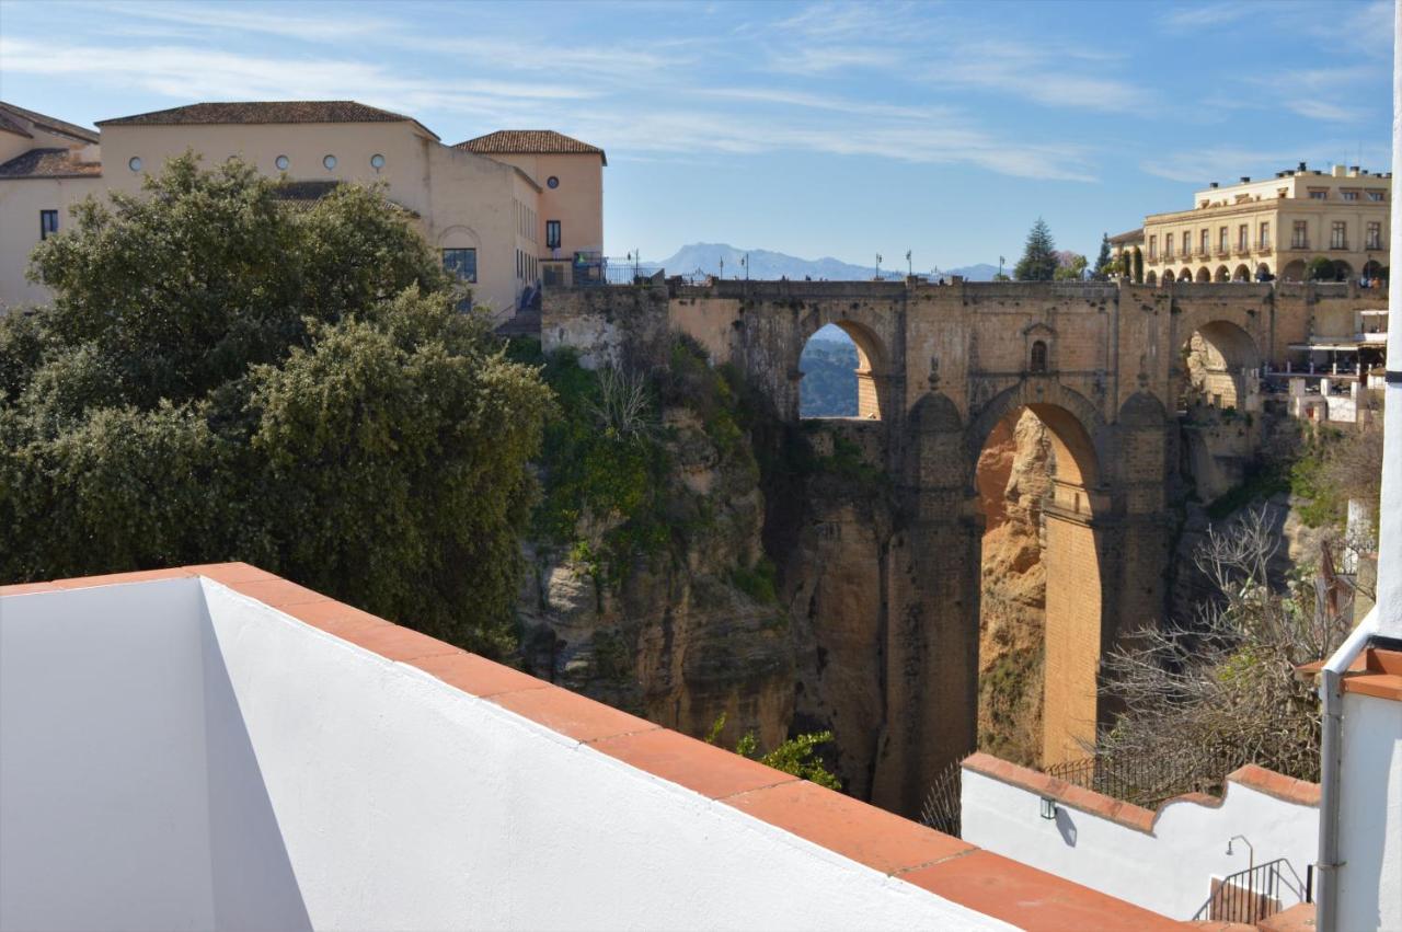
[[[686,408],[662,412],[672,545],[603,573],[620,516],[582,516],[571,548],[533,544],[517,615],[527,670],[688,734],[723,712],[723,743],[788,736],[794,643],[760,547],[764,499],[742,444],[725,451]]]

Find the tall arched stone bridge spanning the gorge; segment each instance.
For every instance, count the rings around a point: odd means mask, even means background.
[[[1245,283],[658,282],[547,296],[543,338],[607,355],[639,313],[663,306],[667,328],[743,367],[789,420],[808,339],[836,324],[857,343],[859,419],[897,489],[882,561],[887,715],[871,795],[913,813],[941,767],[974,748],[984,527],[974,471],[998,420],[1033,411],[1056,453],[1043,512],[1043,762],[1054,762],[1082,755],[1105,720],[1105,652],[1164,614],[1185,346],[1197,334],[1217,360],[1214,394],[1246,399],[1253,369],[1283,362],[1328,314],[1352,321],[1359,296]]]

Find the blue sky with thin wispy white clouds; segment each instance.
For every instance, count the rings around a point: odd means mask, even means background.
[[[80,123],[353,98],[603,146],[606,245],[1015,261],[1300,160],[1391,170],[1391,4],[21,3],[0,98]]]

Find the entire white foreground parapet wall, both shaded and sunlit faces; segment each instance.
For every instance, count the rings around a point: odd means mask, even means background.
[[[1009,928],[209,580],[0,662],[0,929]]]

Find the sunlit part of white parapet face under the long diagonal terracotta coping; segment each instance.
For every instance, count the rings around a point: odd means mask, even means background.
[[[315,928],[1008,928],[206,589]]]

